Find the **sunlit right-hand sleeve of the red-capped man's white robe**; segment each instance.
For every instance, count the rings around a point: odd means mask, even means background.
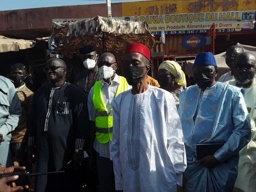
[[[182,173],[187,167],[187,159],[180,118],[172,95],[167,97],[165,106],[167,149],[177,175],[177,184],[182,186]]]

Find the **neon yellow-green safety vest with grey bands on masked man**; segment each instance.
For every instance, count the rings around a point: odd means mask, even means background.
[[[119,93],[122,93],[129,89],[129,84],[126,81],[126,78],[119,76],[121,79],[121,84],[117,86],[116,96]],[[95,126],[96,133],[95,138],[100,143],[107,143],[109,140],[112,141],[112,132],[113,132],[113,111],[112,108],[108,112],[105,103],[102,98],[101,93],[101,81],[97,81],[94,84],[93,90],[93,105],[96,109],[95,115]]]

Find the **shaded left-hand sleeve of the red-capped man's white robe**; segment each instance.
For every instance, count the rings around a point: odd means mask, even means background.
[[[120,109],[116,101],[113,101],[113,138],[111,142],[110,155],[113,159],[114,173],[115,173],[115,186],[116,190],[123,190],[123,178],[121,174],[120,165]]]

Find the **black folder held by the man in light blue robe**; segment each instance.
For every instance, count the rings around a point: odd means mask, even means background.
[[[223,145],[224,143],[197,143],[196,144],[197,160],[202,159],[207,155],[213,155]]]

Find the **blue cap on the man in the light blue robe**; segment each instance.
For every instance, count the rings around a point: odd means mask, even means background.
[[[202,52],[198,53],[196,56],[196,60],[194,62],[194,66],[217,66],[214,55],[211,52]]]

